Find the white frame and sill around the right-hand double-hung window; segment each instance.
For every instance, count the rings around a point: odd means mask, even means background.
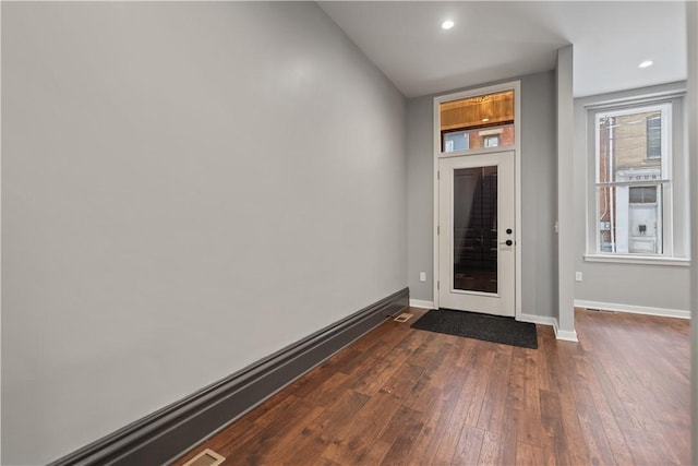
[[[588,154],[592,163],[588,169],[593,170],[587,177],[587,253],[589,262],[616,262],[652,265],[688,266],[689,235],[688,225],[688,179],[686,170],[686,151],[683,143],[685,121],[683,94],[654,98],[637,98],[623,101],[594,104],[586,107],[588,122]],[[662,111],[662,253],[618,253],[601,251],[601,234],[599,229],[599,163],[600,135],[599,121],[602,117],[618,117],[652,110]],[[677,131],[678,130],[678,131]],[[678,145],[679,147],[676,147]],[[655,182],[655,181],[654,181]],[[678,189],[675,189],[677,184]],[[638,184],[640,186],[640,184]],[[675,228],[677,220],[679,228]]]

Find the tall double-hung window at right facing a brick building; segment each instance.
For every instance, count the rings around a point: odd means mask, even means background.
[[[686,188],[674,187],[675,167],[681,167],[673,147],[675,100],[590,111],[595,160],[591,253],[674,255],[674,207],[686,204],[677,199]]]

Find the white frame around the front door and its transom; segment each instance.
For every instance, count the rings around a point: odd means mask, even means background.
[[[498,146],[492,148],[481,148],[481,150],[468,150],[468,151],[457,151],[449,153],[441,152],[441,113],[440,113],[440,104],[449,100],[458,100],[462,98],[477,97],[483,94],[493,94],[503,91],[514,91],[514,145],[513,146]],[[514,241],[516,244],[515,249],[515,278],[514,278],[514,316],[518,321],[521,319],[521,82],[520,81],[510,81],[502,84],[495,84],[492,86],[484,87],[476,87],[468,91],[461,91],[452,94],[445,94],[441,96],[434,97],[434,107],[433,107],[433,220],[432,220],[432,240],[433,240],[433,250],[432,254],[434,258],[433,263],[433,289],[432,296],[434,300],[434,308],[438,309],[440,307],[440,297],[438,297],[438,284],[442,280],[440,277],[440,260],[438,260],[438,160],[441,158],[446,157],[460,157],[467,155],[480,155],[480,154],[490,154],[502,151],[514,151],[514,195],[515,195],[515,230],[514,230]]]

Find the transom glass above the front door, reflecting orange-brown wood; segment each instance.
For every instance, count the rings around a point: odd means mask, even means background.
[[[442,152],[514,145],[514,91],[440,104]]]

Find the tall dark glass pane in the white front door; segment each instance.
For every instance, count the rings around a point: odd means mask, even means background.
[[[454,288],[497,292],[497,167],[454,170]]]

